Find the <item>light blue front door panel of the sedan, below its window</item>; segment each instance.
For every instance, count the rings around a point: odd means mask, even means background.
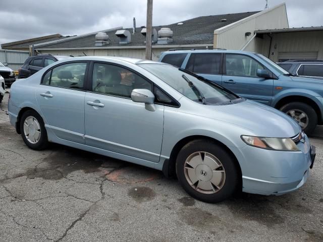
[[[159,161],[164,106],[148,111],[131,99],[97,93],[86,93],[85,103],[86,145]]]

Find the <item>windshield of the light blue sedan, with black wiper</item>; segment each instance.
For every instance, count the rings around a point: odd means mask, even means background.
[[[165,64],[139,64],[189,99],[202,104],[219,104],[239,99],[239,96],[185,70]]]

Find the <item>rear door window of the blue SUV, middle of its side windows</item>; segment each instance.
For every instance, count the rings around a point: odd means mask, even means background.
[[[186,70],[199,74],[220,74],[221,53],[191,54]]]

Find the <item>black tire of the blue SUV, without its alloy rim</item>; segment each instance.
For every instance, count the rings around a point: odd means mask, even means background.
[[[304,132],[307,135],[311,135],[317,125],[317,114],[310,105],[303,102],[291,102],[287,103],[280,108],[282,112],[288,113],[290,110],[297,109],[303,111],[308,117],[308,124],[304,128]],[[297,120],[296,120],[297,121]]]

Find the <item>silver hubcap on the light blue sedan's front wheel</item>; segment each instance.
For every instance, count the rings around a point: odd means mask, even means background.
[[[195,152],[185,161],[185,178],[189,185],[203,194],[219,192],[226,180],[220,160],[207,152]]]

